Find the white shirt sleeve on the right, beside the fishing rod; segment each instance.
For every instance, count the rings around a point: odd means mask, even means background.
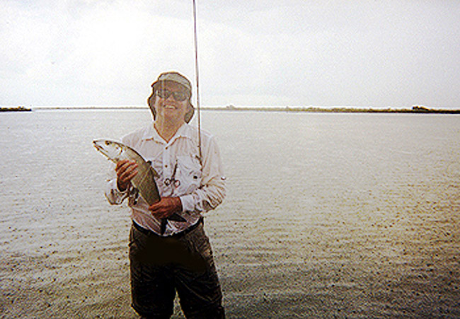
[[[209,139],[202,151],[202,182],[191,194],[179,197],[183,211],[204,212],[215,209],[226,195],[222,161],[214,137]]]

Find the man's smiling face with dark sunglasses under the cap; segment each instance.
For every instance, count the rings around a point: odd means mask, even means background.
[[[156,117],[167,121],[184,121],[189,110],[190,96],[183,86],[176,82],[164,81],[155,89]]]

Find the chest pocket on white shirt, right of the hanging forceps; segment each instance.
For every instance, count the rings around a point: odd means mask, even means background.
[[[181,192],[193,192],[200,187],[202,172],[198,158],[192,156],[177,156],[176,179],[180,180]]]

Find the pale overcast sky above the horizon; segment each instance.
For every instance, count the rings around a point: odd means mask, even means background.
[[[197,0],[200,105],[460,109],[458,0]],[[192,0],[0,0],[0,105],[196,87]],[[196,91],[194,91],[196,98]]]

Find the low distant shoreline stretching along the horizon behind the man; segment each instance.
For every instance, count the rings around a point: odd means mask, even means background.
[[[236,107],[233,105],[226,106],[225,108],[219,107],[201,107],[201,110],[213,111],[257,111],[257,112],[312,112],[312,113],[409,113],[409,114],[460,114],[460,109],[432,109],[423,106],[413,106],[410,109],[392,109],[392,108],[320,108],[320,107],[284,107],[284,108],[248,108]],[[3,111],[4,108],[1,108]],[[11,110],[11,109],[10,109]],[[17,109],[16,109],[17,110]],[[23,109],[30,110],[30,109]],[[33,108],[33,110],[148,110],[147,107],[75,107],[75,108]]]

